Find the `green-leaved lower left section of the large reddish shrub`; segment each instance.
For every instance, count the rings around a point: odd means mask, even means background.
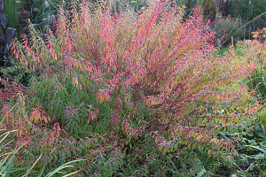
[[[98,87],[94,86],[93,81],[88,81],[87,86],[82,87],[82,90],[78,85],[73,87],[73,84],[81,82],[73,74],[66,73],[60,77],[52,76],[51,78],[40,78],[41,81],[33,81],[31,83],[33,97],[28,104],[33,108],[43,107],[45,112],[51,114],[52,120],[59,120],[71,133],[84,135],[84,131],[80,130],[90,121],[89,115],[92,116],[91,120],[97,119],[98,115],[95,113],[100,111],[101,118],[108,119],[106,117],[111,114],[113,105],[97,103],[95,94]],[[102,127],[100,132],[104,131],[104,125],[94,126]]]

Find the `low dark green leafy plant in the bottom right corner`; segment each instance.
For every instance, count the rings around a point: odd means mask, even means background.
[[[235,173],[239,176],[265,175],[266,134],[259,119],[251,119],[228,136],[239,136],[236,146],[239,153],[233,162],[236,166]]]

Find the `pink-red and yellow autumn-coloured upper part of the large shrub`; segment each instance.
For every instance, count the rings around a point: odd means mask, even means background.
[[[71,13],[63,9],[56,35],[49,28],[41,35],[30,25],[30,35],[13,43],[21,65],[46,75],[70,70],[73,87],[99,86],[98,102],[120,103],[118,110],[126,102],[134,108],[134,100],[149,105],[146,126],[157,125],[159,144],[178,142],[213,155],[232,150],[233,141],[217,134],[255,112],[241,83],[254,65],[235,59],[233,48],[225,58],[214,57],[214,33],[199,7],[185,20],[183,9],[164,11],[163,3],[152,3],[140,15],[114,16],[106,4],[92,8],[86,1]],[[122,125],[134,135],[130,124]]]

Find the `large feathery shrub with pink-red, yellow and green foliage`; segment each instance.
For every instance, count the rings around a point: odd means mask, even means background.
[[[29,36],[13,43],[13,56],[42,74],[30,99],[63,128],[71,130],[66,119],[76,119],[71,127],[77,131],[87,115],[96,125],[106,122],[101,132],[121,138],[126,152],[136,139],[137,145],[153,140],[147,160],[134,158],[140,170],[133,174],[151,165],[156,153],[163,151],[163,158],[180,147],[230,159],[235,141],[219,133],[256,111],[242,83],[254,63],[236,58],[233,48],[215,58],[215,36],[201,13],[197,8],[183,21],[183,9],[163,11],[162,3],[154,3],[139,15],[113,14],[110,6],[93,9],[84,1],[71,16],[59,11],[55,35],[30,26]]]

